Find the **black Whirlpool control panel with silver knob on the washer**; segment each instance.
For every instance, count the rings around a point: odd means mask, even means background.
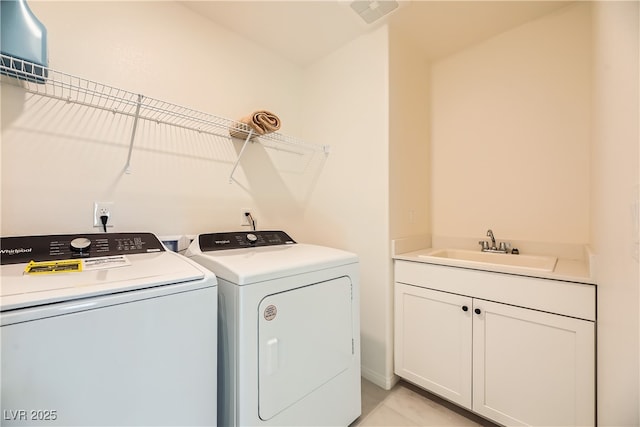
[[[164,250],[160,240],[152,233],[54,234],[0,239],[2,265]]]

